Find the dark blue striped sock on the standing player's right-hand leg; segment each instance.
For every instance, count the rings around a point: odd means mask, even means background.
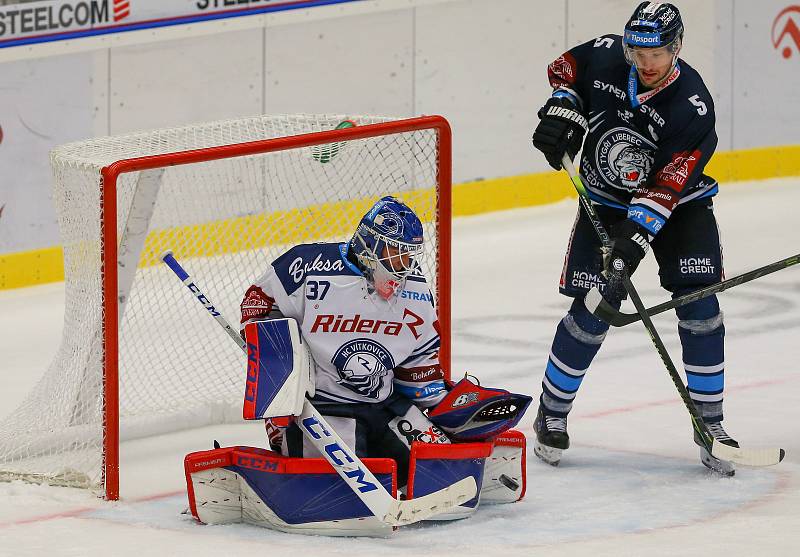
[[[717,297],[686,304],[677,308],[676,313],[689,395],[705,422],[720,422],[725,387],[725,325]]]

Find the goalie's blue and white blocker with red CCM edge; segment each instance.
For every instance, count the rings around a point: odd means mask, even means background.
[[[244,327],[247,384],[243,417],[298,416],[306,393],[314,395],[314,359],[290,318],[252,321]]]

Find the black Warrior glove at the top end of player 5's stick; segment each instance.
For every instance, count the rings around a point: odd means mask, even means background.
[[[552,97],[539,109],[539,125],[533,132],[533,146],[544,153],[547,162],[561,170],[561,159],[570,159],[580,151],[588,122],[583,114],[564,97]]]

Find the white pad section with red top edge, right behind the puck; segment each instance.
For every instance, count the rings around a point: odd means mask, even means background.
[[[514,503],[525,496],[526,441],[521,431],[510,429],[494,440],[486,459],[481,486],[481,503]]]

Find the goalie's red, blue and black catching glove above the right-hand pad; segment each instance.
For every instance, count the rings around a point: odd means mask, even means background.
[[[428,413],[454,441],[484,441],[517,425],[531,397],[481,387],[466,377]]]

